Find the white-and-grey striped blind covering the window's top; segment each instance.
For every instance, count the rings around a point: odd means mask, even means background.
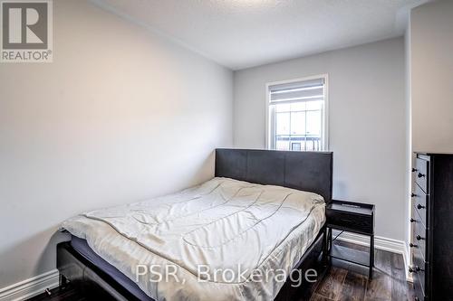
[[[324,79],[302,80],[269,87],[270,104],[324,99]]]

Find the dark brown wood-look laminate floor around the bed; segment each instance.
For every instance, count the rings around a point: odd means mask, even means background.
[[[366,247],[337,241],[348,248],[367,250]],[[404,262],[401,255],[383,251],[375,252],[376,267],[371,281],[367,268],[361,268],[340,260],[333,261],[333,267],[313,287],[310,301],[361,301],[361,300],[413,300],[411,285],[405,280]],[[294,301],[307,301],[301,297]],[[35,296],[33,301],[82,301],[87,300],[71,287],[55,288],[52,296]]]

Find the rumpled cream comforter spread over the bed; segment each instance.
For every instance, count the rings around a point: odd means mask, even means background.
[[[214,178],[62,227],[155,300],[271,300],[322,228],[324,207],[315,193]]]

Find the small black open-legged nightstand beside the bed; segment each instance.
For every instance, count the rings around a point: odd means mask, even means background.
[[[333,200],[327,205],[325,215],[327,217],[327,254],[329,257],[368,267],[370,269],[369,277],[372,278],[372,268],[374,267],[374,205]],[[333,229],[370,236],[370,252],[333,245]]]

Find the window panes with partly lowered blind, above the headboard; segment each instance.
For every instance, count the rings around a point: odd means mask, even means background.
[[[277,150],[327,149],[327,76],[267,85],[267,147]]]

